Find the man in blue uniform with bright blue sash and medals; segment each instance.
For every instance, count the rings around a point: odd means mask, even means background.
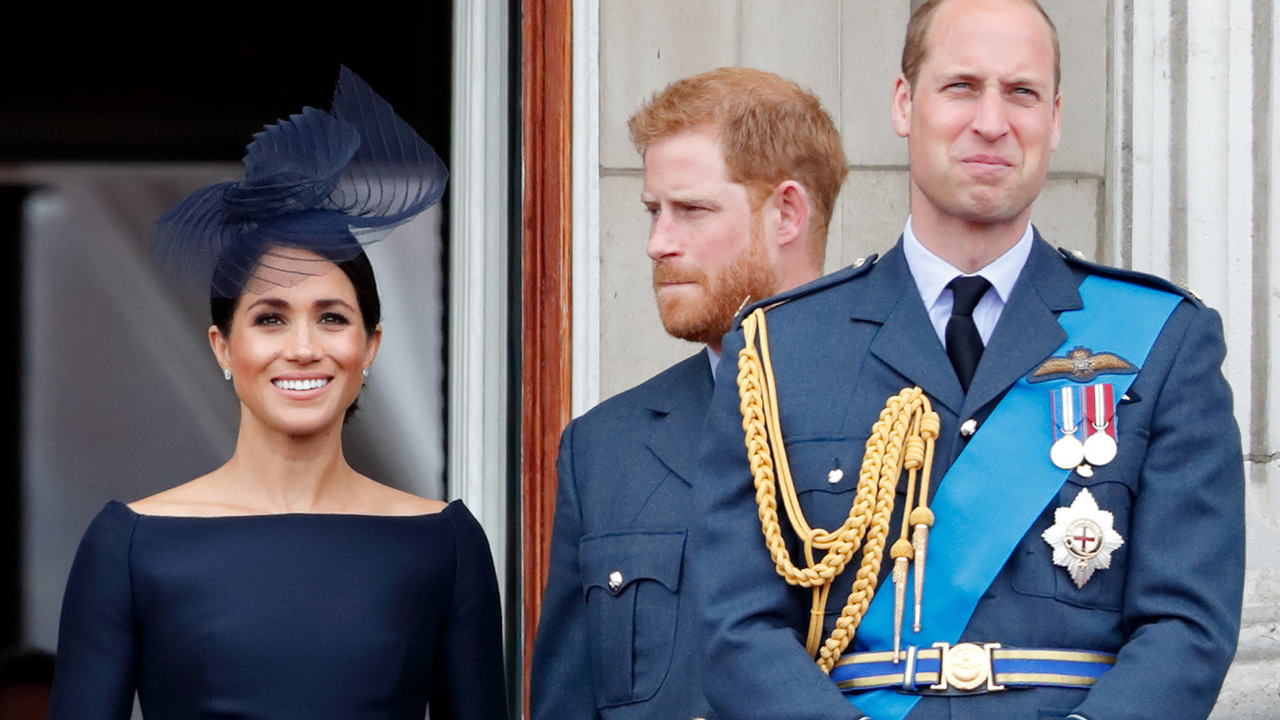
[[[922,5],[892,105],[910,156],[901,240],[749,307],[726,337],[690,552],[714,669],[704,688],[722,717],[1202,719],[1212,708],[1235,652],[1244,565],[1221,323],[1176,287],[1079,260],[1032,227],[1059,138],[1057,55],[1034,0]],[[740,389],[733,357],[746,346],[760,348],[776,396]],[[913,387],[937,413],[936,429],[902,425],[919,430],[916,450],[932,447],[932,479],[922,488],[908,462],[884,530],[850,509],[864,448],[897,442],[869,443],[873,423]],[[749,411],[749,425],[774,434],[753,441],[749,462],[740,402],[751,393],[764,400],[744,407],[764,420]],[[905,512],[918,544],[900,534]],[[864,533],[846,538],[861,555],[818,596],[819,642],[806,642],[810,591],[780,574],[815,583],[805,571],[817,578],[841,552],[817,529],[846,520]],[[767,547],[771,527],[783,542]],[[854,575],[867,557],[881,580],[861,605]],[[899,600],[888,569],[916,561],[923,575],[904,570]],[[851,623],[837,629],[846,600]]]

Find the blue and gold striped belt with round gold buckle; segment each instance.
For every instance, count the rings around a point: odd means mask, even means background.
[[[934,643],[893,652],[854,652],[831,671],[847,692],[896,689],[911,694],[978,694],[1006,688],[1087,688],[1115,665],[1110,652]]]

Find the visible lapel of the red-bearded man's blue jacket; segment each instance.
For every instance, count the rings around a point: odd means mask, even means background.
[[[698,446],[713,387],[710,363],[705,354],[699,354],[648,402],[653,428],[646,441],[649,450],[690,484],[698,469]]]

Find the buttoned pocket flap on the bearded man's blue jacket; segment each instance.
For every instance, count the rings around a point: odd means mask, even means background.
[[[685,530],[582,538],[582,592],[600,587],[618,594],[635,580],[654,580],[676,592],[684,556]]]

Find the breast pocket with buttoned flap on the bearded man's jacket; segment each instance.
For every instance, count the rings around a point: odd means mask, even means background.
[[[580,547],[596,703],[652,698],[671,669],[685,530],[588,537]]]

